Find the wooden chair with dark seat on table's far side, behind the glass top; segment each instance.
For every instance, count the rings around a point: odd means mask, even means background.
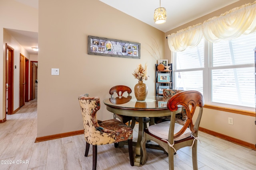
[[[113,86],[109,90],[109,94],[111,95],[111,98],[113,98],[114,93],[116,93],[118,97],[123,97],[123,94],[125,92],[127,92],[128,98],[129,98],[130,94],[132,93],[132,89],[128,86],[118,85],[118,86]],[[134,117],[118,115],[118,114],[114,114],[114,113],[113,113],[113,116],[114,116],[114,119],[118,118],[123,123],[129,122],[128,125],[131,128],[134,128],[135,123],[136,123]],[[130,123],[131,121],[132,121],[132,123]]]

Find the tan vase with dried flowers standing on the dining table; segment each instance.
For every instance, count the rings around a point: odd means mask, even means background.
[[[148,86],[143,83],[143,81],[148,80],[147,63],[145,64],[145,67],[139,64],[132,73],[132,75],[134,76],[134,78],[139,80],[139,82],[134,86],[134,94],[136,99],[139,101],[146,100],[146,97],[148,95]]]

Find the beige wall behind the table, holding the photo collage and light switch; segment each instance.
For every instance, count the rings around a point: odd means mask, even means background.
[[[140,59],[88,55],[88,35],[140,43]],[[138,80],[132,72],[140,63],[148,63],[146,84],[149,95],[154,95],[157,61],[148,51],[156,41],[164,56],[163,36],[98,0],[39,1],[38,137],[83,129],[80,94],[99,96],[98,119],[112,118],[103,100],[115,85],[133,91]],[[51,68],[59,68],[60,75],[52,76]]]

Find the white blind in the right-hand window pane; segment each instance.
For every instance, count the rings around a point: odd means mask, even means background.
[[[255,107],[256,34],[212,44],[212,102]]]

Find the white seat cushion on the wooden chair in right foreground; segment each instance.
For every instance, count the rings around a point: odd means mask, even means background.
[[[174,134],[177,133],[178,131],[180,131],[180,129],[182,127],[183,127],[182,125],[175,123]],[[164,121],[162,123],[158,123],[158,124],[149,126],[148,131],[150,133],[152,133],[153,135],[160,137],[161,139],[168,140],[169,128],[170,128],[170,121]],[[181,139],[190,137],[191,134],[192,134],[192,132],[190,131],[189,128],[187,128],[186,131],[182,135],[180,135],[177,138],[174,138],[174,141],[179,141]]]

